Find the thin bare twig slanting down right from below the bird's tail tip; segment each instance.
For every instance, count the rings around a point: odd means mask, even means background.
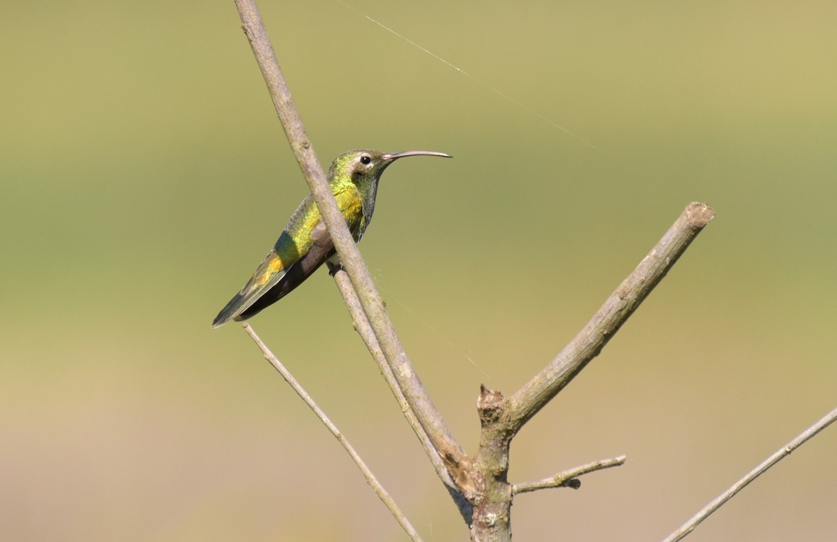
[[[337,439],[337,442],[340,442],[341,446],[344,447],[347,453],[352,457],[352,460],[357,464],[357,468],[360,469],[363,477],[366,478],[367,483],[372,488],[372,490],[377,494],[378,499],[381,499],[384,506],[389,509],[390,514],[393,514],[393,517],[398,521],[398,524],[406,531],[407,535],[410,537],[413,542],[422,542],[419,533],[416,532],[416,529],[413,529],[413,525],[410,524],[407,517],[403,514],[401,509],[398,508],[398,504],[395,504],[393,498],[387,493],[387,490],[383,488],[380,482],[377,481],[375,475],[372,474],[372,471],[369,470],[367,464],[363,462],[363,459],[360,455],[357,454],[355,448],[352,447],[352,444],[348,441],[348,439],[337,429],[336,425],[326,416],[326,412],[323,412],[320,406],[316,404],[316,402],[308,395],[308,392],[300,385],[298,381],[294,378],[293,375],[290,374],[282,362],[276,358],[273,352],[264,344],[264,342],[259,338],[259,335],[256,335],[256,332],[250,327],[249,324],[244,323],[244,330],[247,331],[247,334],[250,335],[250,338],[253,339],[256,345],[259,346],[259,350],[262,351],[264,354],[264,359],[270,362],[270,365],[274,366],[276,371],[279,371],[279,374],[285,381],[290,384],[290,387],[294,389],[296,394],[300,396],[302,401],[306,402],[309,408],[316,414],[316,417],[320,418],[320,421],[325,425],[328,430],[334,435]]]

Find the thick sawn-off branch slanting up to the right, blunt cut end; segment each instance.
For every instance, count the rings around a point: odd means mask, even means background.
[[[588,325],[540,373],[509,397],[506,416],[511,420],[512,434],[598,355],[712,217],[715,212],[704,203],[686,206],[674,225],[610,295]]]

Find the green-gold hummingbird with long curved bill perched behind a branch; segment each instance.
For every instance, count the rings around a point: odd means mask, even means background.
[[[380,152],[356,149],[337,156],[328,170],[328,184],[355,243],[366,232],[375,211],[377,183],[383,170],[404,156],[452,156],[444,152]],[[302,200],[253,277],[213,320],[213,328],[229,320],[247,320],[285,297],[323,263],[339,263],[331,236],[311,194]]]

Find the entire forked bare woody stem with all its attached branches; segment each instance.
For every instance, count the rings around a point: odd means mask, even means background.
[[[347,288],[346,284],[342,284],[345,281],[341,279],[341,274],[336,274],[337,284],[352,312],[357,330],[382,367],[381,371],[387,378],[393,395],[396,396],[419,440],[423,442],[440,478],[460,506],[460,512],[470,525],[472,538],[511,539],[509,515],[513,492],[512,486],[507,482],[511,439],[598,355],[610,337],[654,289],[715,213],[710,207],[698,203],[686,207],[686,212],[655,249],[639,263],[634,273],[611,295],[585,329],[521,390],[506,400],[500,391],[491,391],[483,387],[477,402],[482,425],[480,445],[475,456],[469,458],[424,391],[424,386],[414,373],[393,329],[383,301],[362,261],[356,243],[348,232],[345,219],[336,205],[326,176],[302,127],[254,1],[235,2],[291,149],[306,177],[311,194],[351,282],[352,288]],[[349,292],[352,289],[357,298]],[[362,310],[357,309],[358,306]],[[385,363],[382,363],[382,358]],[[384,366],[387,368],[384,369]],[[432,443],[438,456],[430,450],[427,441]],[[446,472],[441,468],[439,459]],[[624,461],[624,458],[615,458],[613,461],[620,459]],[[516,488],[520,492],[557,485],[573,486],[578,483],[574,477],[605,466],[614,465],[595,463],[582,468],[592,470],[581,472],[574,469],[572,473],[561,473],[548,482],[521,484]],[[559,479],[564,475],[568,478]],[[536,485],[538,487],[535,487]],[[470,509],[470,506],[473,506],[473,509]]]

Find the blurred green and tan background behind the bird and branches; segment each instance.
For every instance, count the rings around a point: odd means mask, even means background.
[[[510,478],[629,462],[518,497],[516,539],[661,539],[834,407],[833,1],[349,4],[472,76],[334,0],[261,2],[324,165],[455,156],[389,169],[361,248],[470,452],[480,382],[516,391],[688,202],[717,212]],[[209,327],[306,194],[234,4],[7,3],[0,46],[0,539],[406,539]],[[425,539],[468,539],[327,274],[252,321]],[[690,539],[833,539],[835,452]]]

